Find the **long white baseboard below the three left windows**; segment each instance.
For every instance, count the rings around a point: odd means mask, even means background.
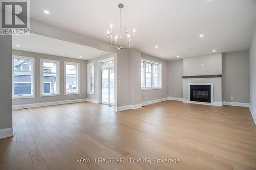
[[[68,104],[74,102],[86,102],[87,99],[73,99],[73,100],[65,100],[65,101],[54,101],[54,102],[42,102],[42,103],[32,103],[32,104],[24,104],[24,105],[13,105],[12,109],[25,109],[32,107],[41,107],[41,106],[52,106],[52,105],[61,105]]]

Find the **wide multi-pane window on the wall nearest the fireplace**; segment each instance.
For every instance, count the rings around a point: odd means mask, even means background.
[[[141,89],[158,89],[162,88],[162,65],[147,60],[141,60],[140,63],[140,77]]]

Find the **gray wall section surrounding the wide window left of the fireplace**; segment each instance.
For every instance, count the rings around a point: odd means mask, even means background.
[[[143,53],[141,58],[162,63],[162,89],[141,90],[141,102],[168,97],[168,61]]]

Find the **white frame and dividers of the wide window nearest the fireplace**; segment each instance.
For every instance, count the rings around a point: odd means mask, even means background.
[[[148,59],[143,59],[141,58],[140,64],[143,62],[144,66],[144,87],[141,87],[141,90],[157,90],[157,89],[162,89],[162,63],[148,60]],[[151,87],[145,87],[146,85],[146,64],[151,64]],[[158,87],[153,87],[153,65],[158,65]],[[140,71],[141,73],[141,71]]]

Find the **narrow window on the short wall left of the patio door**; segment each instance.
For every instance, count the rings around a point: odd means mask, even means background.
[[[94,63],[87,64],[87,93],[94,94]]]

